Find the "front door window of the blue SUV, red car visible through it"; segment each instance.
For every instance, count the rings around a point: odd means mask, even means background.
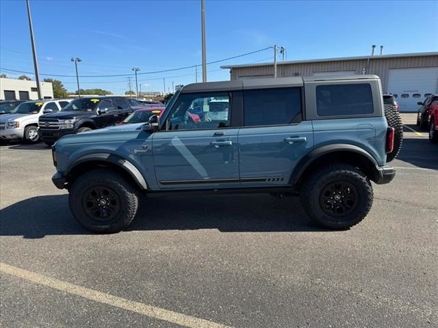
[[[227,128],[230,126],[229,93],[182,94],[168,118],[168,130]]]

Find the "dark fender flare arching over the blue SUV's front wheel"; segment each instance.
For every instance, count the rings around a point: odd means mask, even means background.
[[[77,165],[86,162],[92,162],[92,161],[106,162],[106,163],[117,165],[133,178],[133,180],[136,182],[138,187],[140,187],[140,189],[143,190],[148,189],[148,184],[146,183],[146,180],[140,173],[139,169],[135,165],[133,165],[133,163],[131,163],[127,159],[124,159],[121,156],[105,153],[105,152],[98,152],[94,154],[87,154],[80,156],[78,159],[75,159],[75,161],[73,161],[72,163],[70,163],[70,165],[68,165],[64,174],[68,176],[68,174],[70,174],[70,172],[75,167],[77,167]]]

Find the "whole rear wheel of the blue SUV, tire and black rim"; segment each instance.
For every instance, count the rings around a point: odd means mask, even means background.
[[[349,164],[332,164],[309,176],[301,189],[301,202],[319,226],[347,229],[370,211],[373,191],[370,180]]]

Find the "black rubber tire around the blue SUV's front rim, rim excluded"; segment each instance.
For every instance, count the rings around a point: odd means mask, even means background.
[[[116,193],[120,210],[113,219],[101,221],[87,213],[89,191],[99,186]],[[111,169],[93,169],[79,176],[69,189],[68,204],[73,216],[92,232],[114,233],[127,228],[138,210],[138,188]]]

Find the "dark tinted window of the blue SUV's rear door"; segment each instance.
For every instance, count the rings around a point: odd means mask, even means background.
[[[299,87],[244,91],[245,126],[285,125],[301,120]]]

